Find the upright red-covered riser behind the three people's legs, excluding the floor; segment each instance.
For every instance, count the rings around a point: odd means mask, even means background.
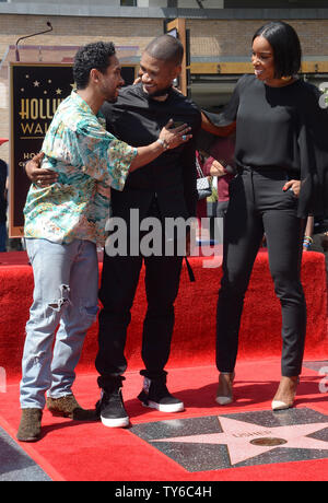
[[[184,267],[178,299],[176,301],[176,325],[169,365],[175,367],[212,364],[215,339],[215,305],[221,281],[221,268],[203,268],[200,257],[190,259],[196,282],[190,283]],[[0,257],[1,261],[1,257]],[[208,262],[207,262],[208,264]],[[99,264],[102,268],[102,264]],[[318,253],[304,254],[302,280],[307,302],[306,356],[325,352],[327,340],[327,286],[325,256]],[[25,324],[32,303],[33,272],[26,265],[1,266],[1,337],[0,366],[7,370],[8,378],[15,379],[21,372]],[[129,370],[140,369],[141,324],[145,313],[143,271],[132,308],[129,327],[127,358]],[[259,253],[248,292],[241,331],[239,358],[274,356],[281,351],[280,303],[273,291],[268,268],[268,255]],[[80,372],[94,370],[97,325],[86,337],[80,361]]]

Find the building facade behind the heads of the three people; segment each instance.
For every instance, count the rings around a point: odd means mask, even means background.
[[[103,39],[122,49],[124,61],[138,65],[148,43],[164,33],[164,21],[185,17],[190,34],[191,97],[199,106],[215,109],[229,100],[239,75],[251,72],[251,37],[268,20],[285,20],[295,27],[305,78],[327,82],[325,5],[327,1],[320,0],[0,0],[0,137],[9,136],[8,61],[14,59],[19,38],[47,30],[47,22],[51,32],[20,42],[22,61],[31,55],[48,61],[59,46],[67,60],[66,50],[71,56],[79,46]],[[8,147],[1,149],[8,159]]]

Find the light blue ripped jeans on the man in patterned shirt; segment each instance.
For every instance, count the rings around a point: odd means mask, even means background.
[[[43,409],[46,391],[52,398],[72,393],[84,337],[98,311],[98,261],[96,245],[89,241],[60,245],[31,238],[26,249],[34,295],[26,324],[21,407]]]

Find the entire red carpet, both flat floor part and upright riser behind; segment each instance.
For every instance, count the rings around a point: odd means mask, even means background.
[[[142,408],[136,399],[141,386],[138,370],[141,367],[140,337],[145,311],[141,282],[132,309],[127,346],[129,372],[124,387],[132,428],[109,430],[101,423],[56,419],[45,411],[40,442],[21,445],[54,480],[327,480],[328,455],[327,459],[296,460],[288,465],[274,463],[265,468],[256,465],[190,472],[133,433],[133,426],[144,423],[270,410],[280,376],[281,320],[267,254],[260,253],[256,260],[245,301],[236,370],[236,401],[224,408],[220,408],[213,399],[218,379],[214,369],[214,318],[221,270],[203,268],[201,258],[191,259],[191,265],[197,281],[190,283],[184,268],[168,365],[169,389],[184,400],[186,411],[164,416]],[[305,254],[302,279],[308,309],[306,360],[328,360],[325,274],[324,255]],[[17,382],[24,326],[33,291],[30,266],[0,266],[0,366],[8,374],[7,393],[0,394],[0,426],[14,437],[20,421]],[[79,401],[87,408],[92,408],[98,398],[93,363],[96,329],[95,325],[87,335],[74,388]],[[311,409],[328,416],[327,394],[319,391],[321,379],[318,372],[304,369],[295,410]]]

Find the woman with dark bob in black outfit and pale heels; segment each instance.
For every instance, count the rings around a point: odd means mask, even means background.
[[[317,89],[295,77],[301,45],[290,25],[270,22],[259,28],[253,38],[251,62],[255,74],[239,79],[223,113],[206,113],[219,128],[236,121],[238,173],[231,183],[224,230],[216,401],[233,401],[244,296],[266,233],[282,311],[282,377],[272,401],[272,409],[280,410],[293,406],[302,370],[306,332],[302,242],[308,213],[323,213],[326,206],[328,119]]]

